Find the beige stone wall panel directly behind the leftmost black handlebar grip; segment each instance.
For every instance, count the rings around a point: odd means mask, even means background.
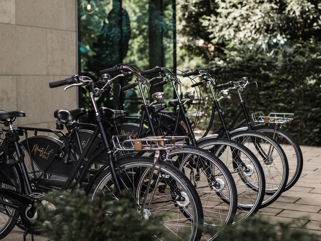
[[[77,108],[76,87],[64,91],[63,87],[49,88],[49,82],[65,79],[69,76],[25,76],[17,79],[18,109],[26,113],[19,125],[55,122],[56,109],[72,110]]]

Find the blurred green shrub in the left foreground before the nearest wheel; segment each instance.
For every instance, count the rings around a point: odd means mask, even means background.
[[[139,241],[166,237],[160,221],[142,218],[130,197],[124,192],[118,199],[106,200],[101,192],[91,201],[83,191],[63,192],[60,196],[50,193],[45,197],[47,204],[50,203],[47,207],[54,204],[56,208],[40,212],[43,220],[36,225],[48,228],[45,234],[53,241]]]

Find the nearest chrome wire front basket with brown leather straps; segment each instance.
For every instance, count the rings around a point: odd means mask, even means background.
[[[113,136],[113,144],[120,151],[171,150],[187,146],[187,136],[154,136],[137,139],[134,135]]]

